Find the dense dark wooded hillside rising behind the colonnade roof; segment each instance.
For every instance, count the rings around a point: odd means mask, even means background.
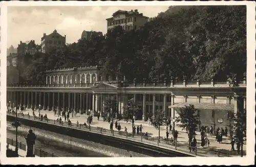
[[[18,61],[27,81],[45,81],[46,69],[94,65],[130,81],[242,79],[246,6],[171,6],[140,30],[124,32],[117,26],[105,37],[78,40]]]

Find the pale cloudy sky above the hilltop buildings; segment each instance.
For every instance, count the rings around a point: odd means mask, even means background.
[[[17,47],[19,41],[35,40],[40,44],[44,33],[55,29],[64,36],[66,43],[77,42],[82,31],[106,33],[106,18],[117,10],[135,10],[147,17],[155,17],[168,6],[12,6],[8,7],[7,47]]]

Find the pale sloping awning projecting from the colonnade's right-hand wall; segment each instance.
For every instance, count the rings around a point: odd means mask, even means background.
[[[211,104],[211,103],[180,103],[168,106],[168,108],[182,108],[189,106],[189,104],[194,105],[196,109],[205,109],[205,110],[226,110],[233,111],[233,104]]]

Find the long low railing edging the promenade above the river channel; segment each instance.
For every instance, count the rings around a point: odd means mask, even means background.
[[[8,113],[8,115],[15,116],[15,112]],[[165,149],[188,153],[188,154],[195,155],[195,156],[230,157],[230,155],[227,155],[227,154],[221,154],[220,152],[217,152],[217,151],[216,152],[209,151],[207,149],[203,149],[203,148],[199,148],[199,147],[195,147],[195,148],[190,147],[191,149],[189,149],[189,146],[186,144],[180,144],[178,142],[170,142],[170,141],[165,141],[165,140],[161,140],[161,139],[158,140],[158,137],[145,136],[144,133],[138,135],[138,134],[132,134],[129,132],[124,132],[124,131],[115,131],[115,130],[111,131],[111,130],[108,130],[105,128],[92,127],[92,126],[83,125],[83,124],[74,124],[74,123],[72,124],[72,123],[63,122],[63,121],[57,122],[56,120],[45,119],[45,118],[41,120],[39,117],[36,117],[36,116],[33,117],[33,116],[19,114],[19,113],[18,113],[18,117],[29,119],[29,120],[34,120],[34,121],[39,121],[39,122],[45,122],[45,123],[49,123],[49,124],[54,124],[56,126],[65,126],[65,127],[69,127],[69,128],[75,128],[75,129],[80,129],[80,130],[84,130],[84,131],[100,133],[103,135],[120,137],[120,138],[124,138],[126,140],[131,140],[131,141],[136,141],[136,142],[140,142],[140,143],[144,143],[144,144],[158,146],[158,147],[162,147]]]

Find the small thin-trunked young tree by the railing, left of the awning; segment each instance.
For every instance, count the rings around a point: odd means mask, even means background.
[[[165,111],[158,109],[154,112],[153,125],[158,128],[158,140],[160,141],[160,126],[166,125]]]

